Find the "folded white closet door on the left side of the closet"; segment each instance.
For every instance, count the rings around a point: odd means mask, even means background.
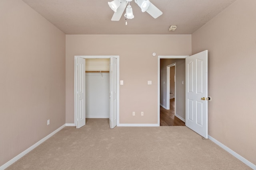
[[[85,59],[76,61],[76,128],[85,125]]]

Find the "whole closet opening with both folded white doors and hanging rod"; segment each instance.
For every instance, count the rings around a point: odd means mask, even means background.
[[[74,120],[76,128],[86,118],[119,125],[119,56],[75,56]]]

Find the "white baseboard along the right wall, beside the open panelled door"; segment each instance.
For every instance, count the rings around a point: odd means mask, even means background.
[[[248,165],[250,168],[256,170],[256,165],[254,165],[252,162],[248,161],[246,158],[242,157],[240,154],[238,154],[238,153],[234,152],[233,150],[229,149],[228,147],[226,147],[225,145],[223,145],[222,143],[220,143],[219,141],[217,141],[216,139],[214,139],[210,135],[208,135],[208,139],[210,139],[211,141],[213,141],[214,143],[219,145],[222,149],[226,150],[227,152],[229,152],[230,154],[232,154],[233,156],[235,156],[236,158],[238,158],[239,160],[244,162],[244,164]]]

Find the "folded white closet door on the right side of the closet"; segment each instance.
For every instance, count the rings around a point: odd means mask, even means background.
[[[116,127],[117,124],[117,59],[114,57],[110,58],[110,111],[109,111],[109,126],[111,129]]]

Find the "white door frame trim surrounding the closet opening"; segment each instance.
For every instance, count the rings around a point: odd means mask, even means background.
[[[119,126],[119,55],[76,55],[74,56],[74,126],[76,126],[76,104],[77,104],[77,96],[76,96],[76,60],[77,58],[83,59],[110,59],[111,57],[115,57],[117,59],[116,63],[116,89],[117,89],[117,97],[116,97],[116,123]]]

